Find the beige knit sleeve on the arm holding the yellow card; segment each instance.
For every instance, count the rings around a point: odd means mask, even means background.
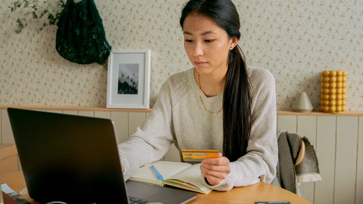
[[[209,188],[228,191],[260,180],[270,183],[276,175],[278,147],[275,81],[272,73],[267,70],[258,78],[254,82],[261,85],[254,90],[255,106],[247,154],[236,162],[229,163],[231,172],[218,185],[208,184],[201,175],[202,182]]]

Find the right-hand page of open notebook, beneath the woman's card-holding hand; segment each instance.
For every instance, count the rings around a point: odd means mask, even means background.
[[[174,176],[171,176],[169,179],[181,180],[195,185],[202,191],[207,191],[209,188],[206,187],[200,180],[200,165],[201,164],[194,164],[193,166],[186,168],[185,170],[175,174]]]

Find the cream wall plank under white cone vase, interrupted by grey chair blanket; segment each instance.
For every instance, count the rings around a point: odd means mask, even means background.
[[[316,144],[316,116],[298,115],[297,133],[306,136],[314,145]],[[301,196],[306,200],[314,203],[314,182],[301,183]]]

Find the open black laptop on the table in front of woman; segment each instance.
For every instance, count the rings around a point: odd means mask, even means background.
[[[67,204],[183,204],[195,193],[123,179],[110,119],[8,108],[29,196]]]

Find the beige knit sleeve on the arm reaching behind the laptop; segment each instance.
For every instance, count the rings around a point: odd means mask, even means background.
[[[125,142],[118,144],[124,179],[129,179],[141,166],[160,160],[174,143],[172,133],[172,102],[168,80],[147,119]]]

